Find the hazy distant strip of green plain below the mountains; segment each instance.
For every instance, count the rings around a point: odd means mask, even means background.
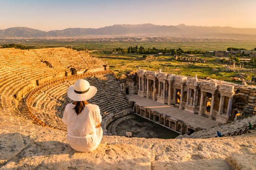
[[[201,51],[225,51],[228,47],[244,48],[252,50],[256,48],[255,41],[242,40],[218,40],[218,39],[190,39],[175,42],[158,41],[103,41],[87,39],[0,39],[0,44],[20,44],[33,47],[75,47],[80,49],[110,51],[113,48],[128,48],[129,46],[143,46],[144,48],[201,50]]]

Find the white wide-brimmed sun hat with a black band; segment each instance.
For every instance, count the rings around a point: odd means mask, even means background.
[[[73,101],[86,101],[97,93],[97,88],[84,79],[79,79],[74,85],[68,87],[68,97]]]

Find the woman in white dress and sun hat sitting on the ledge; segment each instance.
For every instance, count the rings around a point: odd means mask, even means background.
[[[74,102],[66,105],[62,121],[67,125],[69,145],[79,152],[95,150],[102,139],[99,107],[86,102],[96,93],[97,88],[83,79],[79,79],[67,90],[68,97]]]

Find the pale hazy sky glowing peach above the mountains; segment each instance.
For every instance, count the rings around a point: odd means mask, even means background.
[[[143,23],[256,28],[256,0],[0,0],[0,29]]]

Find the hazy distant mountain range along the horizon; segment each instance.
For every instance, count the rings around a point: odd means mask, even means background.
[[[67,28],[64,30],[40,31],[27,27],[13,27],[0,30],[0,38],[48,38],[85,37],[88,35],[125,36],[171,36],[188,38],[217,38],[256,40],[256,28],[165,26],[154,24],[113,25],[102,28]]]

